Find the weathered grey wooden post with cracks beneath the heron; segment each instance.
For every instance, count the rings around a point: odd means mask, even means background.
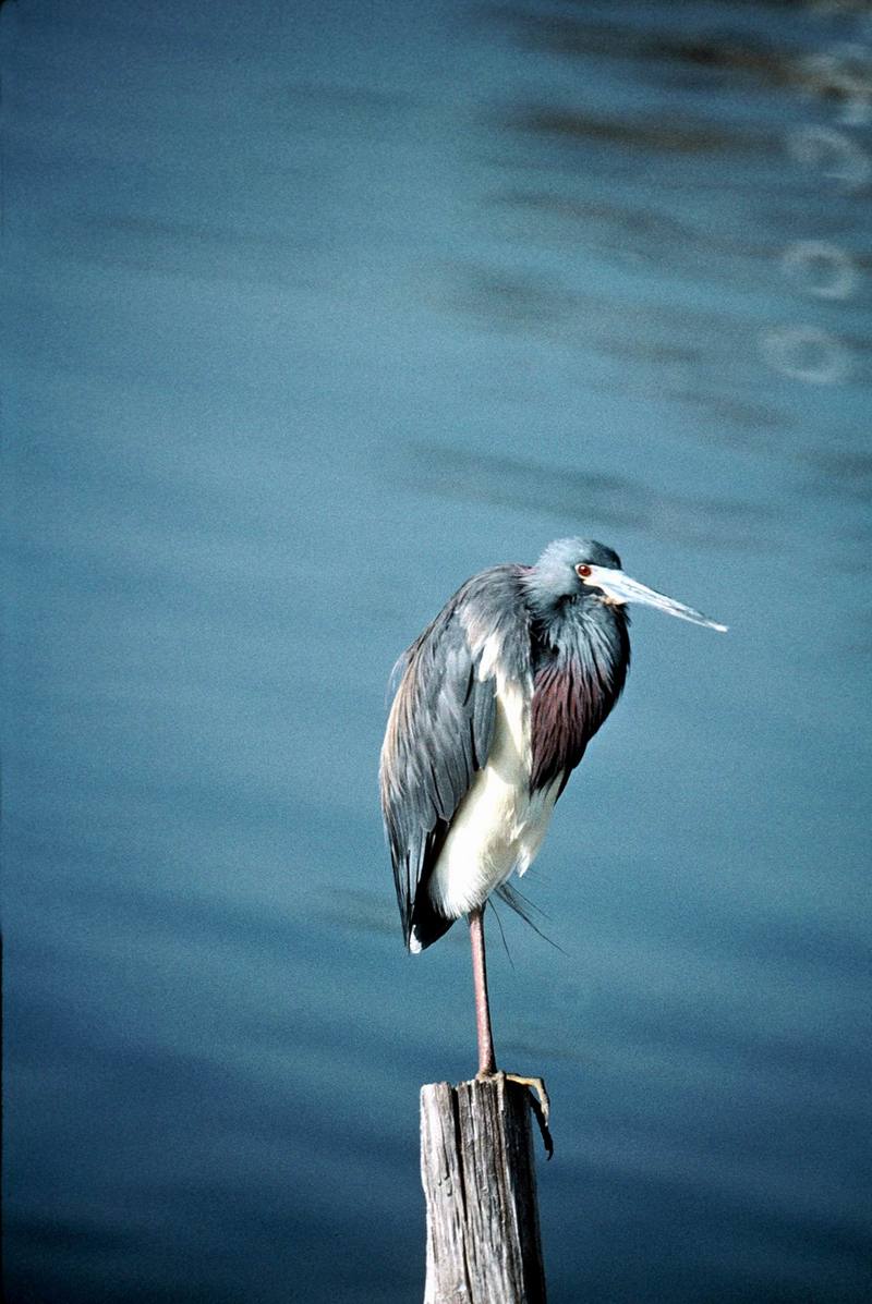
[[[424,1304],[544,1304],[530,1095],[503,1073],[420,1090]]]

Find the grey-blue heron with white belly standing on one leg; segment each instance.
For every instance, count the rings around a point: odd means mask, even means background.
[[[533,566],[466,580],[394,666],[380,793],[406,947],[426,951],[469,921],[478,1077],[496,1074],[484,949],[492,895],[546,836],[555,803],[620,698],[638,602],[726,632],[631,579],[611,548],[548,544]],[[540,1078],[508,1074],[540,1089]]]

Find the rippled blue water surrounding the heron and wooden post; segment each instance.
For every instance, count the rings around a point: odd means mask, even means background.
[[[385,682],[564,533],[731,631],[637,614],[556,945],[491,917],[551,1299],[872,1297],[862,7],[0,37],[8,1297],[420,1297],[474,1025],[462,927],[401,945]]]

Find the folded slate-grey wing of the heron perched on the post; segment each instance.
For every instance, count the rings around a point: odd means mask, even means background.
[[[401,659],[380,780],[406,945],[413,927],[423,949],[453,923],[433,910],[427,882],[491,750],[495,675],[529,674],[523,570],[495,566],[467,580]]]

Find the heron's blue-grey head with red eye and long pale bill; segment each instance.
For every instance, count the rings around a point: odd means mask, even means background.
[[[557,539],[548,544],[529,574],[527,593],[534,609],[543,615],[561,608],[568,600],[589,608],[597,604],[624,606],[627,602],[641,602],[668,615],[677,615],[679,619],[726,631],[726,625],[718,625],[692,606],[631,579],[621,570],[617,553],[594,539]]]

